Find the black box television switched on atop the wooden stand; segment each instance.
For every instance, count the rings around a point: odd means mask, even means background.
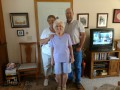
[[[107,52],[113,48],[114,29],[90,29],[90,51]]]

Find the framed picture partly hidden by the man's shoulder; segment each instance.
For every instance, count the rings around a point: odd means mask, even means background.
[[[85,28],[89,27],[89,13],[78,13],[77,20],[79,20]]]

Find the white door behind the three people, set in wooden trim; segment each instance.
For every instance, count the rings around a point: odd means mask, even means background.
[[[70,7],[68,2],[38,2],[38,21],[39,21],[39,35],[41,35],[44,28],[48,27],[47,17],[55,15],[59,19],[66,21],[65,10]]]

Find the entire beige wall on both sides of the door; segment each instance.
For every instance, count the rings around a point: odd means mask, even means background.
[[[6,39],[8,44],[8,56],[10,62],[18,62],[20,41],[36,41],[34,0],[2,0]],[[112,23],[113,9],[120,9],[120,0],[73,0],[74,18],[77,13],[89,13],[89,28],[96,28],[97,13],[109,13],[108,27],[115,29],[115,38],[120,38],[120,23]],[[25,30],[25,36],[18,37],[17,30],[11,28],[9,13],[28,12],[29,28]],[[86,29],[87,43],[89,42],[89,28]],[[28,32],[28,34],[26,34]]]

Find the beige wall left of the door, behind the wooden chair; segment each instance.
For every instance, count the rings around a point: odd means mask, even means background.
[[[10,62],[19,62],[19,42],[36,41],[34,0],[2,0],[5,33]],[[9,13],[28,12],[29,28],[11,28]],[[23,29],[25,36],[18,37],[17,30]],[[28,32],[28,34],[26,34]]]

